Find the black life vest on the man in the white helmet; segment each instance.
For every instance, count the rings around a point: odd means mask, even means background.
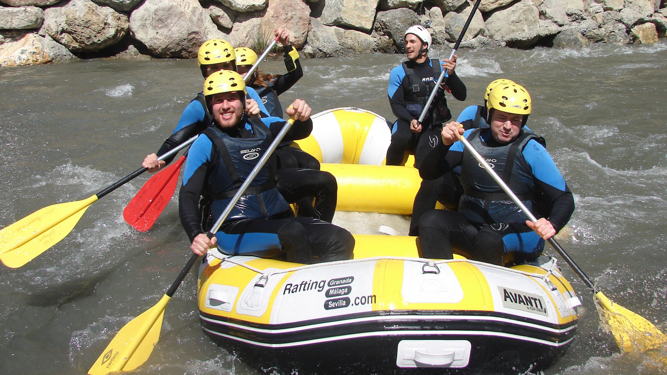
[[[431,59],[431,67],[433,69],[432,77],[419,77],[414,71],[414,68],[410,67],[408,63],[410,61],[404,61],[401,65],[403,70],[406,72],[406,77],[408,77],[408,92],[404,93],[404,98],[406,101],[406,108],[408,112],[419,118],[424,111],[424,106],[430,97],[431,92],[436,86],[438,77],[440,77],[440,61],[438,59]],[[412,64],[410,64],[412,65]],[[424,117],[424,123],[432,124],[442,124],[445,121],[448,121],[452,118],[452,113],[447,107],[446,99],[443,98],[440,103],[431,103],[431,108],[428,111],[428,115]],[[428,119],[431,119],[429,121]]]

